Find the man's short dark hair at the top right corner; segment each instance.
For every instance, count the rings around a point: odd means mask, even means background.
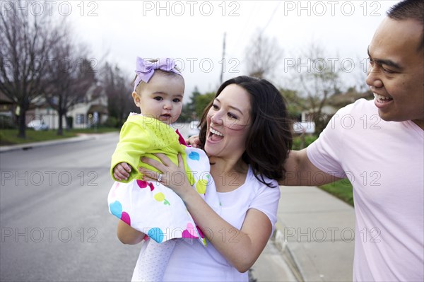
[[[387,11],[387,16],[393,20],[417,20],[423,25],[420,45],[418,51],[424,49],[424,1],[423,0],[405,0],[392,6]]]

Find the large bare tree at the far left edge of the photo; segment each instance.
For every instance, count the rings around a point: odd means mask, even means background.
[[[49,53],[63,36],[52,16],[28,13],[20,8],[25,7],[23,2],[7,2],[0,11],[0,90],[20,107],[21,138],[25,138],[25,112],[44,88]]]

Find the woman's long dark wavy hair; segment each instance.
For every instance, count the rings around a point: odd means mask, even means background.
[[[244,88],[250,95],[250,129],[242,160],[252,167],[257,180],[273,187],[264,180],[264,176],[278,181],[285,179],[284,163],[293,143],[292,122],[288,117],[285,99],[269,81],[249,76],[238,76],[225,81],[215,98],[230,84]],[[213,100],[201,117],[201,146],[206,141],[206,117],[212,105]]]

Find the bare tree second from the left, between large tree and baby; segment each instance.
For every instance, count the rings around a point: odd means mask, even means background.
[[[57,42],[52,50],[53,60],[49,68],[49,84],[45,88],[45,97],[59,115],[58,135],[63,135],[62,120],[69,108],[85,97],[88,88],[95,83],[95,69],[91,65],[91,59],[82,54],[83,51],[78,50],[68,36]]]

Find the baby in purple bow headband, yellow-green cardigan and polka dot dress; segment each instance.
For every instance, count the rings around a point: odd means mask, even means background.
[[[148,246],[139,280],[162,281],[175,247],[174,239],[196,238],[203,245],[206,240],[182,199],[164,185],[167,177],[177,176],[163,175],[140,158],[159,160],[154,154],[164,153],[178,164],[181,154],[190,184],[216,211],[220,206],[209,175],[208,157],[204,151],[187,146],[179,132],[170,127],[181,114],[184,97],[184,78],[175,62],[169,58],[146,61],[138,57],[132,97],[141,113],[131,113],[121,129],[112,155],[111,175],[116,182],[108,204],[110,213],[146,234]],[[148,175],[156,181],[143,181],[139,167],[157,172]]]

